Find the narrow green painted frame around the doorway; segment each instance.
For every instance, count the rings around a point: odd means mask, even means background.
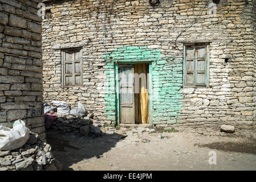
[[[148,92],[148,109],[149,109],[149,125],[153,125],[153,88],[152,88],[152,62],[148,61],[121,61],[121,63],[115,63],[115,94],[116,94],[116,122],[120,125],[120,97],[119,97],[119,76],[118,76],[118,64],[136,64],[136,63],[148,63],[149,64],[149,92]]]

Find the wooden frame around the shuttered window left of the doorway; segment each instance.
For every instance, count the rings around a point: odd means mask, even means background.
[[[79,52],[80,54],[80,79],[81,82],[79,85],[67,85],[66,84],[66,52]],[[74,67],[75,62],[72,63],[72,70],[74,71],[75,67]],[[65,49],[61,49],[61,73],[62,73],[62,88],[71,88],[74,86],[83,86],[83,49],[81,47],[77,47],[77,48],[65,48]],[[72,74],[75,74],[75,72]]]

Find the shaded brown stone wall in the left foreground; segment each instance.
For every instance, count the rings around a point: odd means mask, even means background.
[[[39,1],[0,0],[0,125],[22,119],[45,138]]]

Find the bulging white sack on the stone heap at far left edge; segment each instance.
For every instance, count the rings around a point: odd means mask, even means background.
[[[0,126],[0,151],[14,150],[22,147],[29,140],[29,132],[25,122],[21,119],[13,123],[13,128]]]

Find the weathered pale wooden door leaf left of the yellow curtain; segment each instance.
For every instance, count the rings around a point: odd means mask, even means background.
[[[135,123],[134,67],[132,64],[119,65],[119,93],[121,123]]]

